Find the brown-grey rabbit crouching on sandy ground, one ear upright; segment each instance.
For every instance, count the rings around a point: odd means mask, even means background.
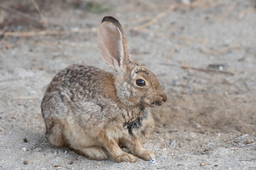
[[[46,138],[88,159],[154,159],[140,140],[153,132],[150,108],[166,102],[166,94],[149,69],[131,60],[124,30],[112,16],[102,19],[98,46],[115,72],[74,64],[56,74],[41,102]]]

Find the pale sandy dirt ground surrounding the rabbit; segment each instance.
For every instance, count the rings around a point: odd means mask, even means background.
[[[42,16],[33,1],[0,3],[35,20],[0,9],[0,169],[256,169],[255,0],[34,2]],[[112,72],[97,49],[109,15],[168,96],[143,144],[157,164],[92,161],[44,137],[41,99],[60,69]]]

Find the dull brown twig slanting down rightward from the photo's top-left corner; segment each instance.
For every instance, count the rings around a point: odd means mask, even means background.
[[[0,4],[0,9],[3,9],[4,11],[8,11],[9,13],[13,13],[14,15],[16,16],[19,16],[21,18],[26,18],[28,19],[29,21],[33,21],[32,23],[36,26],[39,26],[41,28],[45,28],[46,26],[41,23],[40,21],[38,21],[38,19],[36,18],[33,18],[32,16],[29,16],[28,14],[26,13],[23,13],[21,11],[16,11],[15,9],[13,8],[9,8],[8,6],[3,6]]]

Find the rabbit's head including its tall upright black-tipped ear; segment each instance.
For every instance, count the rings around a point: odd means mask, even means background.
[[[161,106],[167,97],[156,76],[130,58],[120,23],[111,16],[102,19],[98,35],[100,54],[116,71],[115,93],[129,106]]]

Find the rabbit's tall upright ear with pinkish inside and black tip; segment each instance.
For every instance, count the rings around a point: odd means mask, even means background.
[[[117,72],[126,72],[129,50],[124,30],[112,16],[105,16],[100,26],[98,43],[103,59]]]

